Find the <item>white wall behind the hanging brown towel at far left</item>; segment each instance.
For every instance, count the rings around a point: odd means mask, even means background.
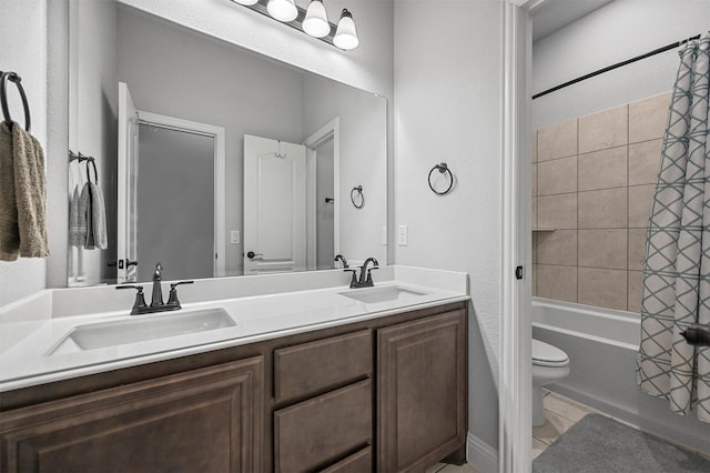
[[[14,71],[22,78],[31,132],[47,150],[47,1],[0,0],[0,70]],[[21,100],[11,83],[8,99],[12,119],[24,127]],[[41,258],[0,262],[0,306],[44,289],[45,269]]]

